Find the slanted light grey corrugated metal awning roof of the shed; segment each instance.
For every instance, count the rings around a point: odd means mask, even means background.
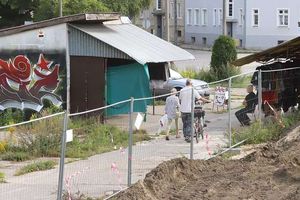
[[[195,59],[189,52],[132,24],[73,24],[73,26],[123,51],[140,64]]]

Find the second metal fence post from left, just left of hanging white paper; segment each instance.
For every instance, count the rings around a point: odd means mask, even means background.
[[[131,186],[131,174],[132,174],[132,143],[133,143],[133,128],[132,128],[132,114],[133,114],[133,104],[134,98],[131,97],[130,101],[130,111],[129,111],[129,140],[128,140],[128,176],[127,176],[127,186]]]

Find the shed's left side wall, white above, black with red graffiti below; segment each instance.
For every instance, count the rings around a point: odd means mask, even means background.
[[[65,107],[66,26],[0,37],[0,111]]]

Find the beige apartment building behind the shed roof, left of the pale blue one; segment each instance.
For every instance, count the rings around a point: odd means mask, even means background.
[[[169,3],[168,9],[167,3]],[[133,23],[164,40],[176,44],[183,43],[185,38],[184,3],[185,0],[153,0],[149,9],[143,10]],[[169,16],[169,25],[167,16]]]

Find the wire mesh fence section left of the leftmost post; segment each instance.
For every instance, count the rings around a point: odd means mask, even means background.
[[[56,199],[63,113],[47,115],[0,127],[0,199]]]

